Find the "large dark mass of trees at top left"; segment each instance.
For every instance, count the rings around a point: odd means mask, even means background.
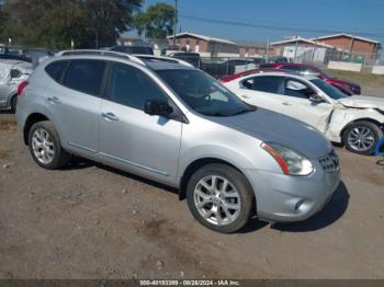
[[[3,35],[18,45],[78,48],[114,45],[133,27],[142,0],[5,0]]]

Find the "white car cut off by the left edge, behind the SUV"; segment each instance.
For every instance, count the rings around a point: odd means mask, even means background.
[[[30,62],[0,57],[0,108],[11,108],[12,112],[16,110],[18,87],[30,77],[31,72]]]

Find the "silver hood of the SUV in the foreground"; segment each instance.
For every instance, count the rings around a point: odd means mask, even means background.
[[[330,142],[317,129],[264,108],[258,107],[255,112],[236,116],[208,118],[259,140],[283,145],[310,159],[324,157],[331,149]]]

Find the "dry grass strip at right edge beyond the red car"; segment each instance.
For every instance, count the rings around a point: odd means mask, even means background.
[[[373,74],[371,73],[371,71],[364,71],[364,70],[361,72],[340,71],[340,70],[331,70],[331,69],[326,69],[326,70],[337,78],[350,80],[352,82],[361,84],[362,87],[384,89],[384,74]]]

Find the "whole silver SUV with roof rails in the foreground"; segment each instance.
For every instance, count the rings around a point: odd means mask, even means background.
[[[320,133],[245,104],[187,62],[70,54],[41,64],[19,96],[19,128],[45,169],[76,154],[178,187],[219,232],[253,213],[304,220],[338,186],[338,157]]]

